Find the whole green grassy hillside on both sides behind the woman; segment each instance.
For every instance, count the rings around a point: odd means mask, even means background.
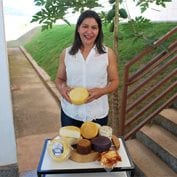
[[[153,23],[136,26],[121,24],[118,34],[120,78],[122,78],[123,66],[128,60],[174,26],[176,23]],[[24,47],[54,80],[59,64],[59,55],[64,48],[71,45],[73,34],[74,25],[54,26],[51,30],[37,33]],[[104,26],[104,42],[109,47],[112,47],[112,35],[109,32],[109,27]]]

